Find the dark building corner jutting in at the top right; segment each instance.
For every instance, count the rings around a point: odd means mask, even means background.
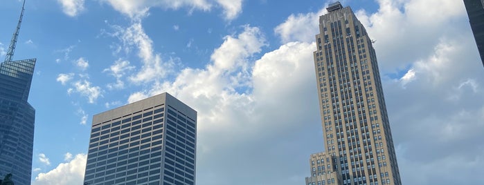
[[[484,0],[464,0],[464,3],[484,66]]]

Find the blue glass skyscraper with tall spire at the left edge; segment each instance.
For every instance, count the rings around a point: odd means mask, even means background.
[[[36,59],[12,61],[24,10],[0,64],[0,177],[12,173],[17,185],[30,184],[35,122],[28,93]]]

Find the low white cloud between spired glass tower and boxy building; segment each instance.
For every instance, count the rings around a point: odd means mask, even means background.
[[[48,173],[39,173],[33,185],[82,184],[87,155],[78,154],[69,162],[61,163]]]

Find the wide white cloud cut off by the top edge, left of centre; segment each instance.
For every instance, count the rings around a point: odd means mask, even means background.
[[[177,10],[179,8],[188,8],[193,10],[209,11],[212,9],[213,0],[99,0],[109,3],[115,10],[121,12],[132,19],[141,19],[147,16],[150,8],[170,8]],[[224,10],[224,19],[235,19],[242,12],[242,0],[227,1],[217,0],[215,2]]]

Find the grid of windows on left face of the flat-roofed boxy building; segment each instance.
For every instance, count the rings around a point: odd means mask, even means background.
[[[159,184],[164,110],[159,105],[93,125],[84,182]]]

